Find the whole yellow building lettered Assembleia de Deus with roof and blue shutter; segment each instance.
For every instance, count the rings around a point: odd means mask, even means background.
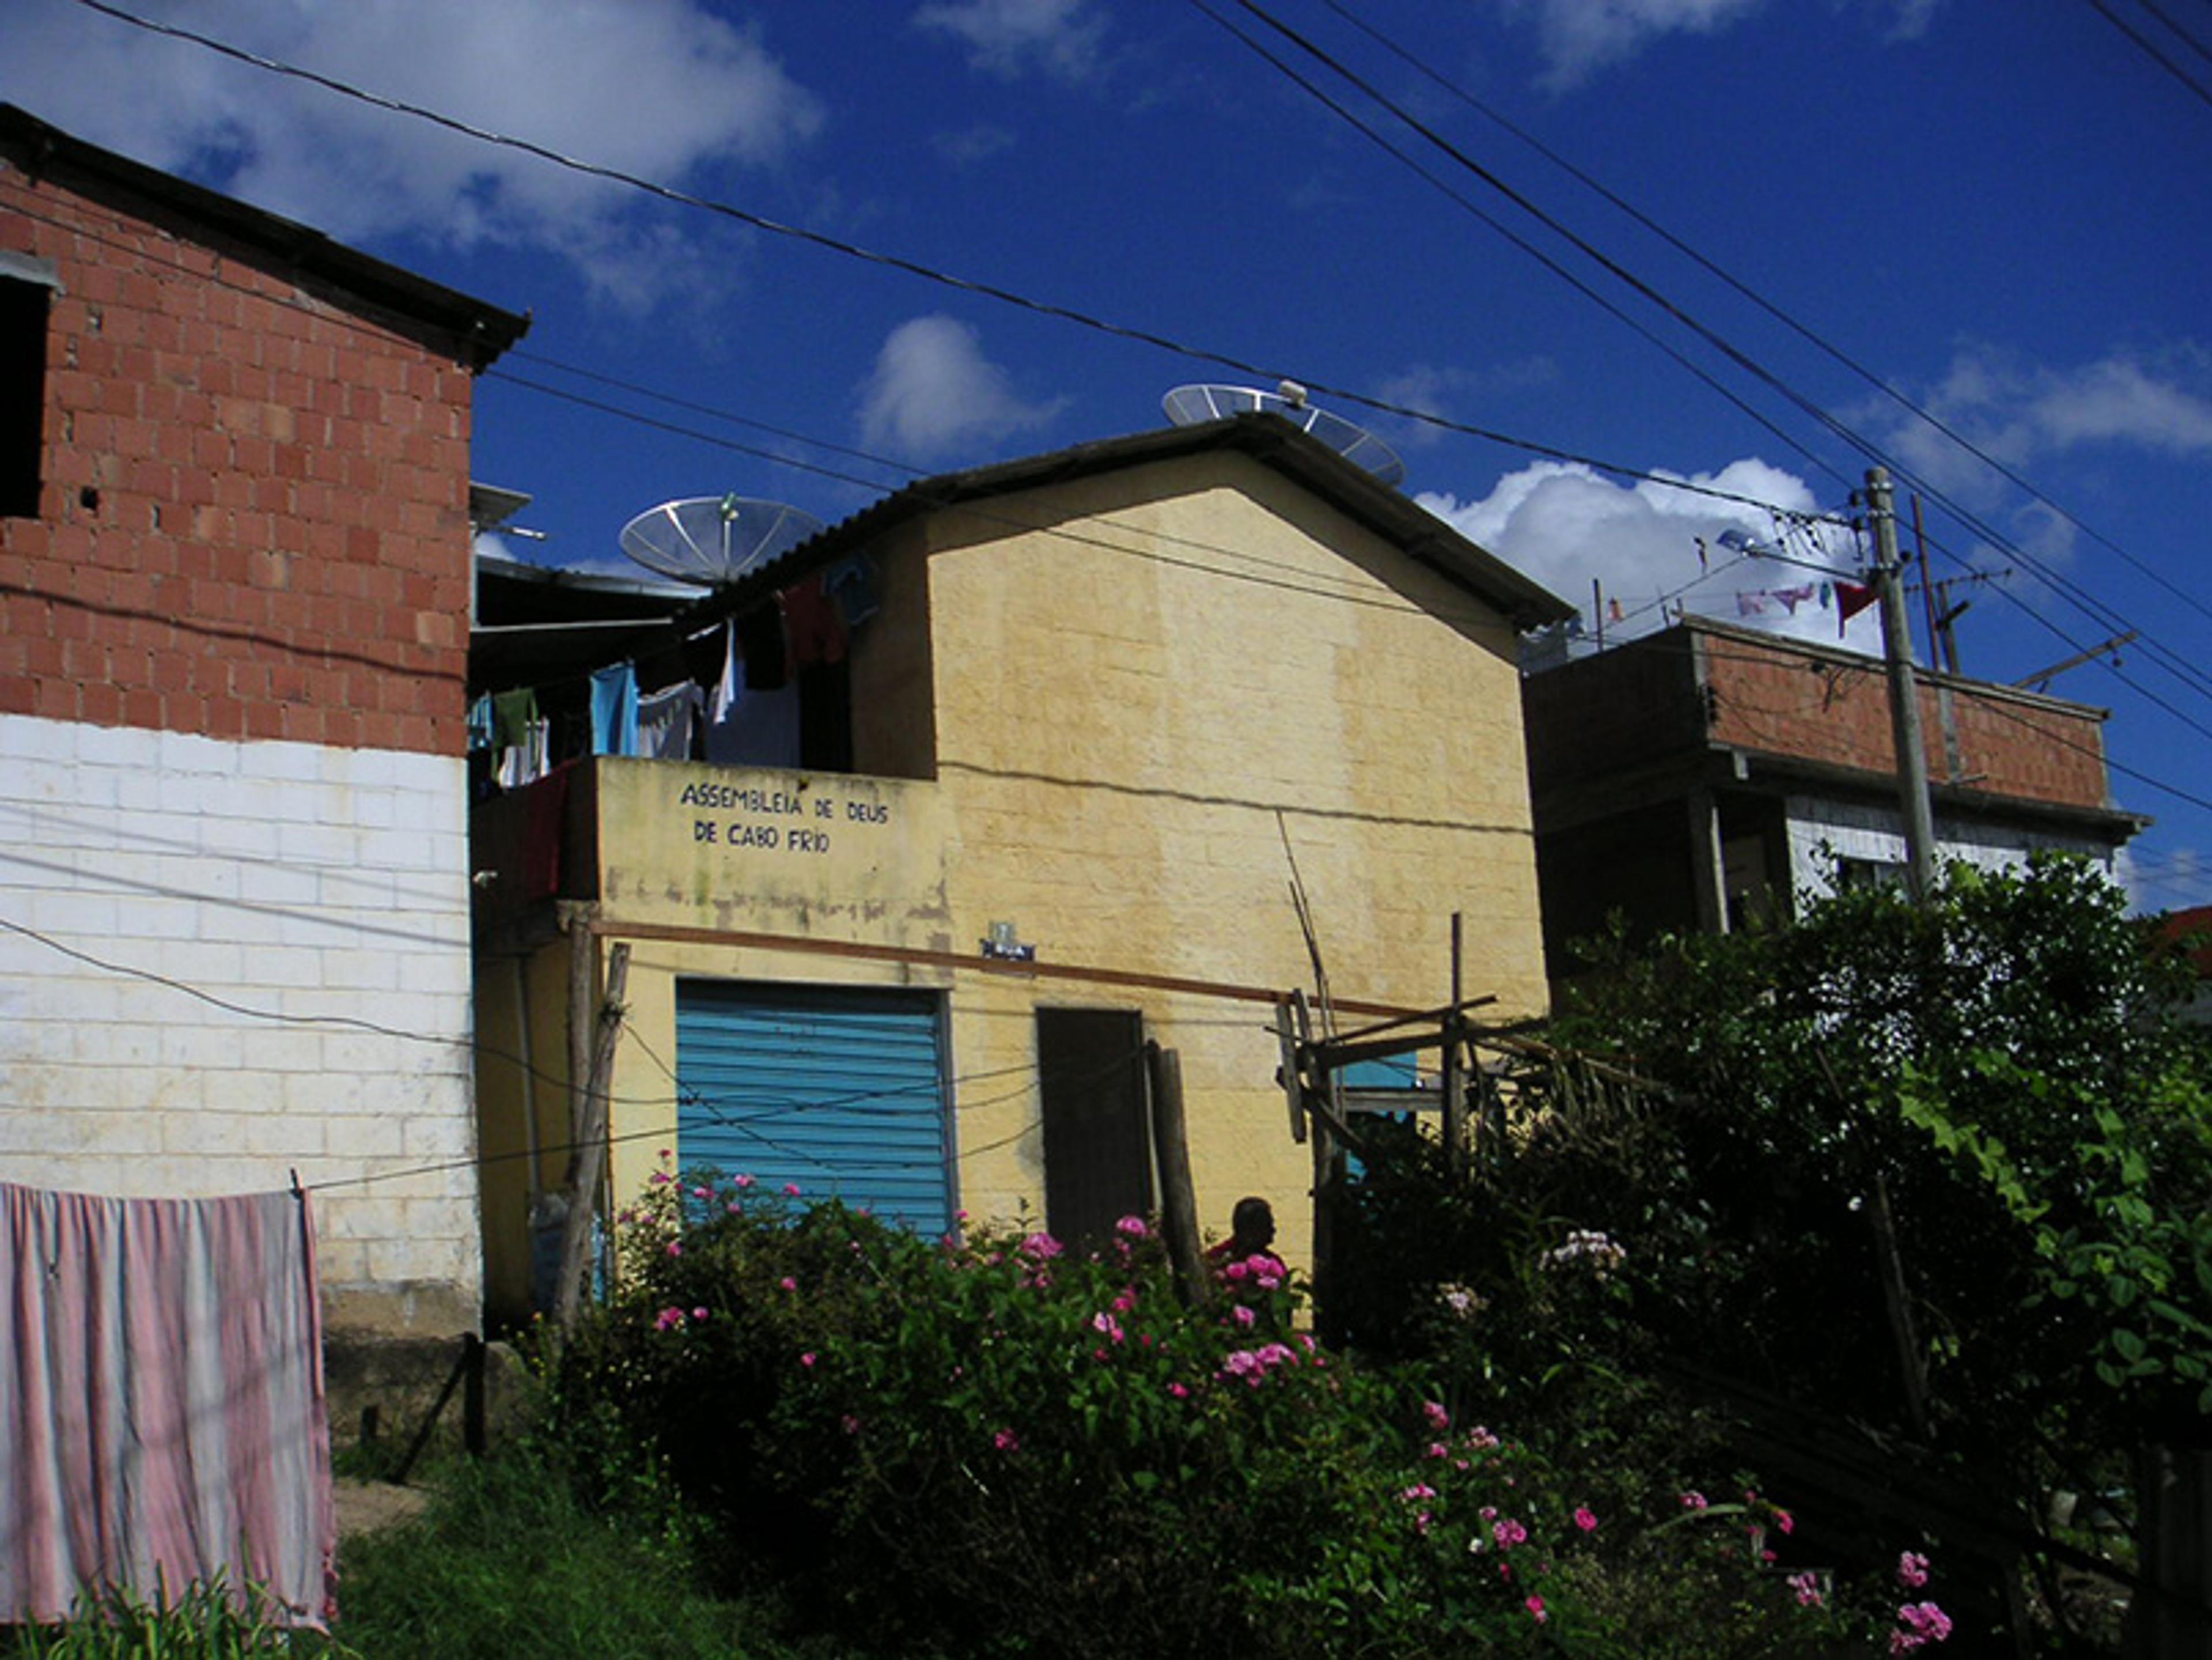
[[[823,572],[854,617],[827,650]],[[1515,637],[1568,608],[1290,422],[914,484],[613,650],[737,619],[768,681],[779,603],[810,668],[745,701],[787,705],[805,765],[602,754],[480,807],[495,1313],[531,1304],[617,942],[617,1205],[666,1149],[1079,1238],[1152,1205],[1157,1039],[1208,1231],[1263,1194],[1294,1264],[1294,871],[1340,1008],[1442,1004],[1460,913],[1467,995],[1542,1010]]]

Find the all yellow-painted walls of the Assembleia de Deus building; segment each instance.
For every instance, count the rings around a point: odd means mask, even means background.
[[[1442,1004],[1460,911],[1467,992],[1537,1012],[1511,628],[1241,455],[945,508],[872,553],[869,774],[595,763],[599,915],[637,931],[613,1189],[675,1147],[679,977],[920,986],[947,1008],[956,1205],[1042,1216],[1035,1010],[1139,1010],[1181,1054],[1208,1233],[1265,1194],[1305,1264],[1312,1165],[1267,1001],[987,973],[980,942],[1009,922],[1040,968],[1312,988],[1287,836],[1338,997]],[[555,957],[531,975],[540,1046]]]

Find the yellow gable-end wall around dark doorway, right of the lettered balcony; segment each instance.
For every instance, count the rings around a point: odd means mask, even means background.
[[[1037,528],[1020,528],[1037,526]],[[929,559],[953,935],[1048,962],[1312,986],[1290,851],[1338,997],[1542,1008],[1511,628],[1281,475],[1210,455],[938,519]],[[956,1004],[962,1194],[1042,1194],[1031,1006],[1141,1008],[1179,1050],[1201,1220],[1267,1194],[1294,1258],[1310,1154],[1263,1006],[1006,984]]]

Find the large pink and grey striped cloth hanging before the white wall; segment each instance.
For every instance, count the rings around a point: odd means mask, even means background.
[[[325,1412],[305,1194],[0,1183],[0,1625],[221,1578],[323,1629]]]

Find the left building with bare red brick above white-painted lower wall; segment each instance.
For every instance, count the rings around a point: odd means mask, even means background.
[[[469,433],[524,327],[0,108],[0,1178],[352,1180],[334,1324],[476,1320]]]

